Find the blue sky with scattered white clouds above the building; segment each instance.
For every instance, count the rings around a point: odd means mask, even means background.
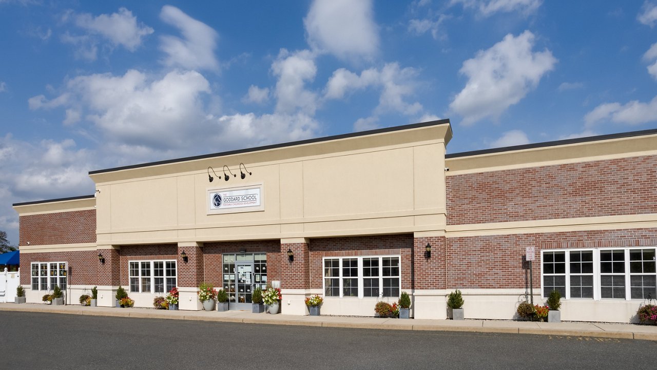
[[[0,0],[0,230],[90,170],[449,118],[448,152],[651,129],[657,0]]]

